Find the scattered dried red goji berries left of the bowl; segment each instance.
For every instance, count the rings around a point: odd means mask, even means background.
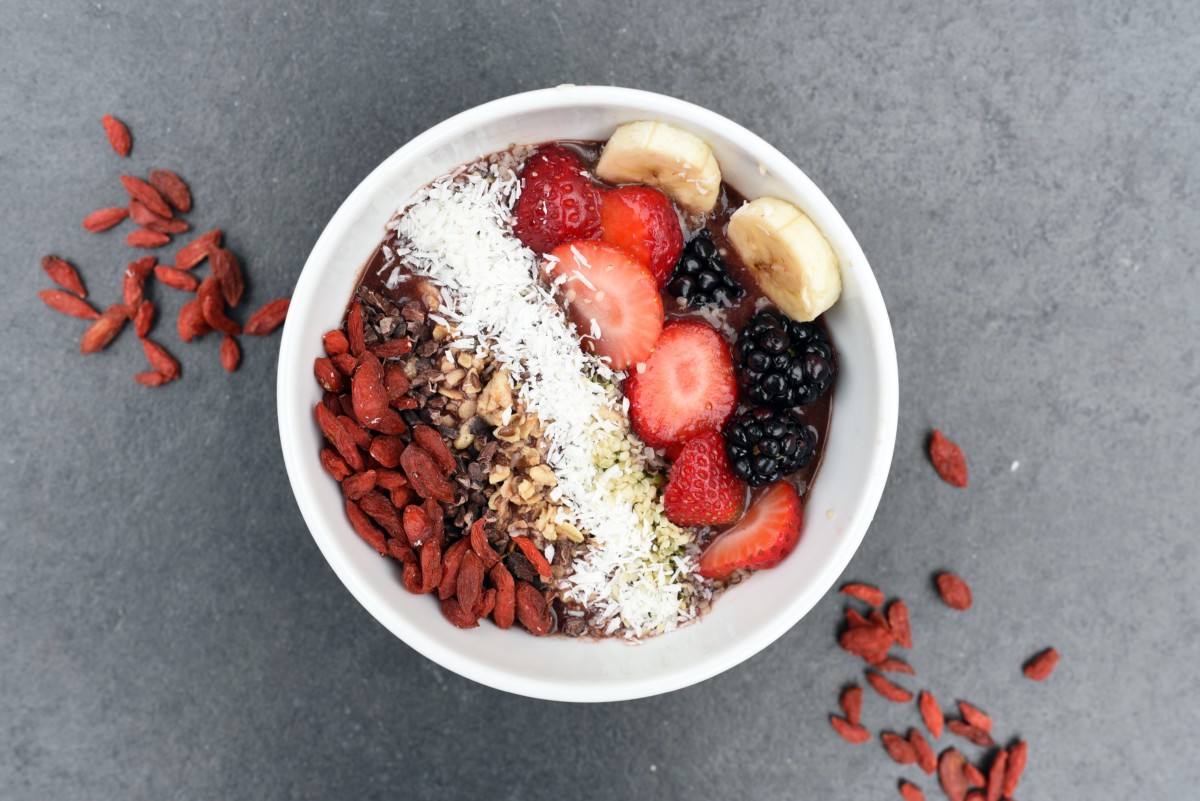
[[[120,120],[106,115],[101,120],[104,134],[113,150],[127,158],[132,149],[132,137]],[[83,219],[83,227],[91,233],[109,230],[126,219],[138,228],[130,231],[125,243],[130,247],[156,249],[168,242],[173,235],[185,234],[191,227],[180,215],[192,210],[192,193],[179,175],[170,170],[151,170],[148,180],[133,175],[121,175],[121,186],[128,194],[125,206],[98,209]],[[47,289],[38,295],[55,312],[91,320],[83,332],[79,351],[92,354],[102,350],[116,338],[126,323],[132,323],[142,350],[149,362],[149,371],[133,377],[144,386],[161,386],[180,375],[179,361],[162,345],[149,338],[154,326],[156,309],[152,301],[145,297],[146,282],[154,277],[158,283],[184,293],[194,293],[196,297],[184,303],[176,320],[180,339],[192,342],[212,331],[223,335],[221,342],[221,365],[227,371],[238,368],[241,360],[241,348],[236,336],[266,336],[277,329],[288,312],[288,300],[278,299],[264,305],[250,315],[246,325],[239,325],[227,315],[227,309],[241,302],[245,290],[241,263],[233,252],[221,247],[222,231],[214,229],[197,236],[181,247],[173,264],[160,264],[157,255],[145,255],[134,259],[126,266],[121,279],[121,302],[98,312],[85,299],[79,272],[65,259],[47,255],[42,259],[42,269],[50,281],[62,289]],[[209,261],[211,275],[203,281],[192,275],[202,261]]]

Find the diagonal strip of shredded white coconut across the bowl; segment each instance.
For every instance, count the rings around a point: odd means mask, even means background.
[[[412,271],[442,288],[444,320],[430,319],[452,329],[456,345],[490,350],[546,426],[551,496],[587,535],[563,596],[610,634],[671,631],[695,616],[692,535],[666,519],[653,451],[630,433],[617,390],[623,375],[583,353],[538,279],[538,257],[512,235],[518,193],[511,171],[478,163],[419,192],[390,228]]]

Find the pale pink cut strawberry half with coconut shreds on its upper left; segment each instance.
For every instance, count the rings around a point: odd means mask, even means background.
[[[568,242],[546,257],[583,348],[608,359],[614,369],[644,361],[662,333],[662,297],[654,277],[636,259],[605,242]],[[593,325],[594,324],[594,325]],[[590,338],[599,329],[599,338]]]

